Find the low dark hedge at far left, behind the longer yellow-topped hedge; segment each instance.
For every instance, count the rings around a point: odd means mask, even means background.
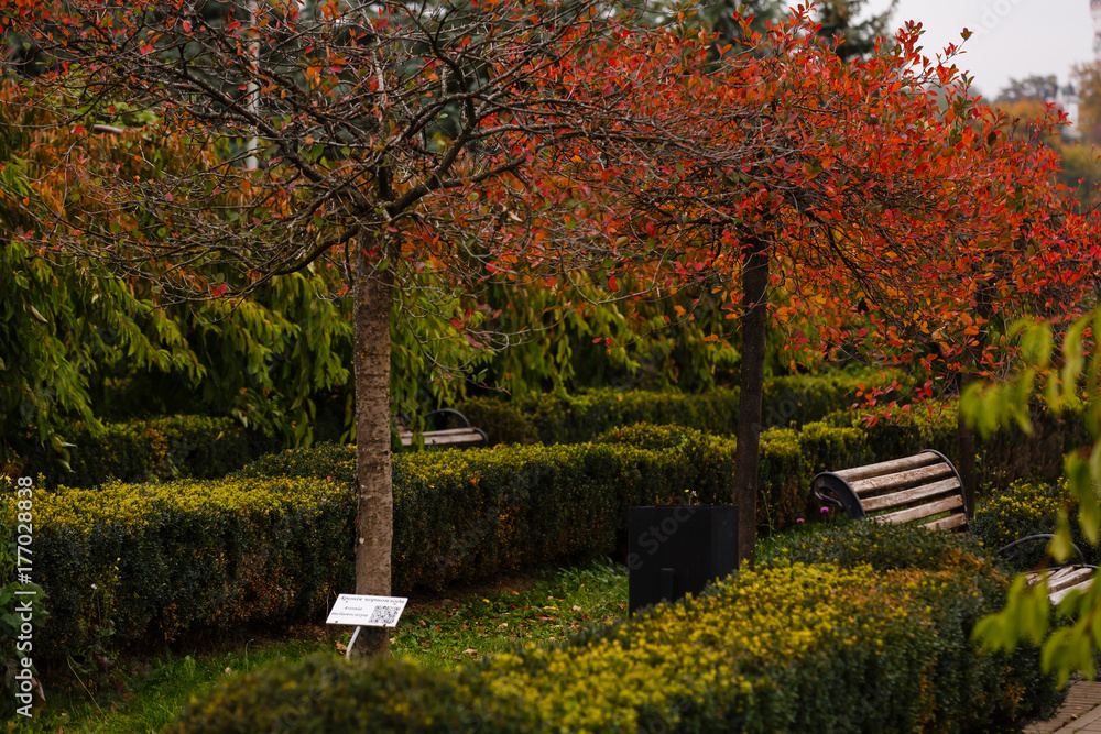
[[[24,456],[21,473],[46,476],[47,486],[96,486],[111,479],[218,479],[270,451],[281,441],[249,431],[232,418],[168,416],[152,420],[103,424],[92,430],[76,424],[65,440],[72,471],[59,463],[65,454],[35,448]]]

